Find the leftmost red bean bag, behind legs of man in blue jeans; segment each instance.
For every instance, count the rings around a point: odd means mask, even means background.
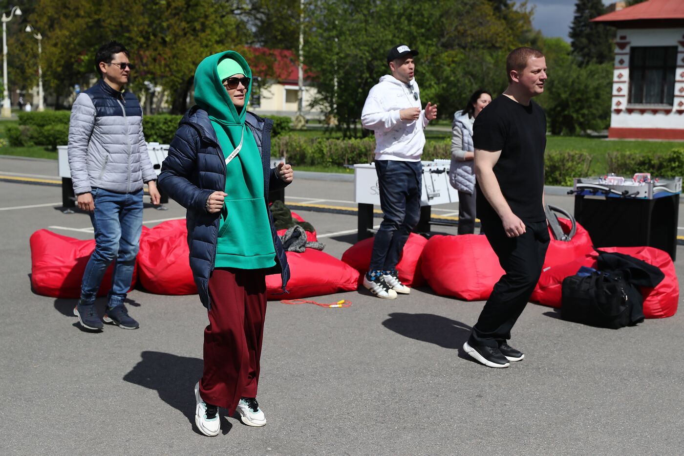
[[[80,240],[39,229],[31,235],[31,286],[38,294],[53,298],[79,298],[81,280],[95,240]],[[111,270],[107,268],[97,296],[105,296],[111,288]],[[137,269],[133,269],[131,289],[135,286]]]

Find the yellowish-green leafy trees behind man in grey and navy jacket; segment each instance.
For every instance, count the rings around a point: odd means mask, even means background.
[[[97,77],[94,54],[114,39],[129,48],[136,65],[132,90],[140,94],[149,84],[162,86],[174,112],[183,112],[200,60],[228,47],[241,50],[251,40],[235,14],[240,5],[237,0],[37,0],[40,14],[27,15],[27,21],[43,36],[44,86],[57,95],[57,105],[74,84],[86,88]],[[27,42],[31,47],[22,49],[29,55],[35,43]]]

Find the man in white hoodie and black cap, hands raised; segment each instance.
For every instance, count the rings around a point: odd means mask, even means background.
[[[410,292],[399,281],[397,263],[420,218],[423,130],[437,116],[437,105],[428,103],[421,110],[420,90],[413,79],[415,55],[418,51],[406,45],[389,50],[392,74],[382,76],[371,88],[361,112],[361,123],[376,135],[376,173],[384,213],[363,286],[386,299]]]

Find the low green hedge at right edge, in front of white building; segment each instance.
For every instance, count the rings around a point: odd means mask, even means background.
[[[684,176],[684,148],[668,152],[609,152],[608,170],[629,177],[634,173],[650,173],[653,177]]]

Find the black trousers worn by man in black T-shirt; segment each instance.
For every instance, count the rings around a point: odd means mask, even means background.
[[[551,239],[546,220],[525,223],[525,233],[517,238],[506,236],[498,216],[481,216],[480,222],[505,274],[494,286],[468,343],[497,346],[511,338],[510,331],[539,281]]]

